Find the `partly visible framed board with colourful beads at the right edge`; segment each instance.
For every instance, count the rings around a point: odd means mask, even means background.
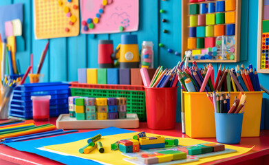
[[[269,73],[269,0],[259,0],[257,72]]]

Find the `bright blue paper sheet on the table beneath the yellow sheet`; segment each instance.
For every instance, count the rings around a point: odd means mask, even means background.
[[[97,162],[94,162],[89,159],[82,159],[79,157],[74,156],[64,156],[64,155],[58,155],[56,153],[50,153],[47,151],[42,151],[37,148],[43,147],[43,146],[50,146],[54,144],[63,144],[63,143],[69,143],[69,142],[75,142],[78,140],[83,140],[86,138],[93,137],[100,133],[101,135],[116,135],[120,133],[131,133],[134,131],[129,131],[126,129],[118,129],[116,127],[109,127],[107,129],[99,129],[96,131],[89,131],[86,133],[71,133],[68,135],[59,135],[56,137],[47,137],[39,140],[29,140],[25,142],[11,142],[6,144],[7,146],[10,146],[12,148],[15,148],[19,151],[26,151],[29,153],[35,153],[37,155],[41,155],[43,157],[47,157],[49,159],[54,159],[57,162],[61,162],[63,164],[99,164]]]

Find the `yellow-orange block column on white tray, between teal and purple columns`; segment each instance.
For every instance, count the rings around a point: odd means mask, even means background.
[[[106,120],[107,112],[107,98],[96,98],[97,120]]]

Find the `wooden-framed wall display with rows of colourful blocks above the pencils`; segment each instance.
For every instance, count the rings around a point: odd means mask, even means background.
[[[236,63],[240,51],[241,0],[182,0],[182,59]]]

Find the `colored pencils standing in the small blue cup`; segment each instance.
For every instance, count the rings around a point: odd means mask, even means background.
[[[230,92],[229,94],[222,94],[222,93],[215,93],[213,91],[213,94],[209,95],[206,92],[206,96],[208,97],[208,100],[210,100],[211,104],[214,106],[214,110],[217,113],[242,113],[244,111],[244,107],[246,104],[246,94],[242,94],[240,92],[238,98],[235,97],[235,100],[230,107]]]

